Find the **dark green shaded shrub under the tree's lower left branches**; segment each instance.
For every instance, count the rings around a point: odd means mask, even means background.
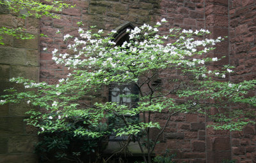
[[[103,139],[74,136],[72,132],[44,132],[35,146],[35,152],[38,153],[42,162],[58,160],[82,162],[83,157],[90,157],[90,154],[104,150]]]

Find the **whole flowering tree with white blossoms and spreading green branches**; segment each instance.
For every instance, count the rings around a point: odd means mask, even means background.
[[[115,46],[112,41],[116,31],[103,37],[102,30],[92,33],[79,29],[80,38],[64,36],[64,40],[74,42],[68,45],[72,53],[55,49],[52,59],[70,67],[67,78],[60,79],[57,85],[12,78],[10,81],[22,83],[26,91],[7,90],[11,94],[2,96],[1,104],[26,101],[28,105],[38,106],[28,111],[27,119],[29,125],[38,127],[38,134],[58,131],[91,139],[110,134],[126,136],[126,144],[118,152],[136,141],[144,162],[152,162],[159,136],[177,113],[206,114],[212,118],[214,129],[239,131],[254,123],[250,118],[255,114],[248,114],[252,108],[247,110],[239,104],[256,106],[255,97],[246,96],[249,90],[255,89],[256,81],[225,80],[232,73],[228,65],[209,69],[209,65],[220,59],[207,57],[207,53],[223,38],[207,39],[204,36],[210,32],[204,29],[170,29],[168,34],[159,35],[164,22],[163,19],[154,27],[144,24],[128,29],[129,41],[121,46]],[[179,74],[172,75],[173,69]],[[100,94],[110,91],[113,84],[136,87],[138,94],[122,95],[126,99],[138,99],[136,104],[100,101]],[[218,114],[209,114],[211,108],[218,110]],[[168,117],[161,126],[154,115],[163,112]],[[136,115],[140,118],[131,118]],[[113,125],[116,121],[120,125]],[[159,133],[150,139],[154,128]]]

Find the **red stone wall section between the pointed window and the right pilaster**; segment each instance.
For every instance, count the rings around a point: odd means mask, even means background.
[[[163,31],[168,32],[168,29],[173,27],[193,30],[205,28],[204,1],[163,0],[160,5],[159,19],[168,20],[168,25],[162,28]],[[173,70],[161,75],[175,76],[179,75],[179,72]],[[159,114],[157,121],[164,125],[166,118]],[[156,146],[156,153],[163,153],[169,149],[176,153],[175,162],[206,162],[204,115],[173,116],[160,141],[161,143]]]

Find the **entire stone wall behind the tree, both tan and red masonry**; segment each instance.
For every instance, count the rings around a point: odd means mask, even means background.
[[[218,44],[211,57],[224,59],[214,67],[232,64],[235,73],[229,81],[243,81],[256,78],[256,2],[255,0],[68,0],[76,8],[58,13],[61,19],[42,17],[40,22],[27,18],[19,20],[8,11],[0,10],[1,25],[25,26],[38,36],[38,31],[48,38],[20,41],[6,37],[6,45],[0,46],[0,89],[10,87],[8,79],[25,76],[36,81],[55,84],[65,78],[67,67],[54,64],[51,52],[54,48],[67,51],[68,43],[63,36],[77,36],[79,26],[109,32],[124,22],[133,25],[154,24],[161,18],[168,20],[162,27],[167,32],[172,27],[183,29],[209,29],[211,38],[228,36]],[[56,33],[60,31],[61,34]],[[37,40],[37,39],[36,39]],[[38,46],[39,45],[39,46]],[[43,48],[47,50],[43,50]],[[40,53],[40,59],[38,58]],[[38,70],[40,62],[40,71]],[[175,70],[172,74],[177,74]],[[228,75],[228,74],[227,74]],[[22,89],[20,87],[20,89]],[[255,91],[248,96],[255,96]],[[253,108],[252,108],[253,109]],[[255,108],[254,108],[255,109]],[[22,119],[26,108],[15,105],[3,106],[0,110],[0,162],[36,162],[32,154],[35,132],[26,128]],[[214,110],[212,110],[214,111]],[[164,115],[156,115],[160,124]],[[256,162],[256,125],[248,126],[241,132],[214,131],[205,127],[211,124],[204,115],[180,114],[172,117],[156,146],[156,153],[167,148],[176,153],[176,162],[221,163],[223,159],[236,159],[237,163]],[[28,157],[29,156],[29,157]],[[29,158],[29,159],[28,159]],[[22,161],[20,161],[22,160]]]

